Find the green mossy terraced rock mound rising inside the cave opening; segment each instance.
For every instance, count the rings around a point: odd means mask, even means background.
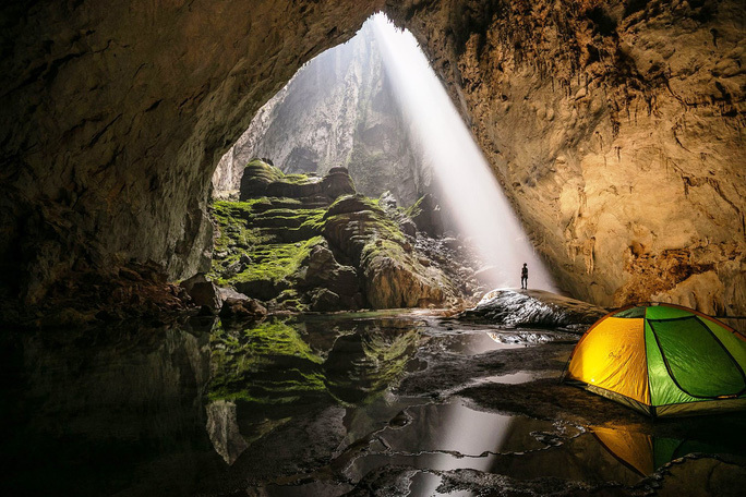
[[[256,159],[244,170],[240,199],[213,204],[217,238],[208,277],[220,287],[275,311],[455,301],[449,278],[417,250],[406,211],[358,195],[345,168],[317,178],[285,174]]]

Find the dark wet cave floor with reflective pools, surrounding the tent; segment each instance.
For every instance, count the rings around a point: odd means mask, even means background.
[[[742,495],[746,414],[561,385],[577,335],[434,311],[7,334],[3,495]]]

